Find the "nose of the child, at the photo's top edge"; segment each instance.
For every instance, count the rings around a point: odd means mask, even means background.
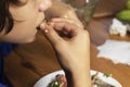
[[[39,11],[43,12],[47,9],[49,9],[52,5],[51,0],[43,0],[40,4],[39,4]]]

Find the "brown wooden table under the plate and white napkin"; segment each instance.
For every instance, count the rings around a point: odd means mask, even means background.
[[[129,35],[123,38],[108,35],[112,18],[93,18],[90,23],[88,30],[91,34],[91,70],[110,73],[122,87],[130,87],[130,66],[96,58],[96,46],[108,38],[130,41]],[[4,62],[5,74],[13,87],[32,87],[43,75],[61,70],[52,47],[40,34],[35,42],[15,48]]]

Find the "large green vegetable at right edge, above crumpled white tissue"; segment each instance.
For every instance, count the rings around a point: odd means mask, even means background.
[[[122,10],[116,14],[118,20],[130,22],[130,10]]]

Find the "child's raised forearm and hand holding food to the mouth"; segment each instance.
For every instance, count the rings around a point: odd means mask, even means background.
[[[52,44],[68,87],[91,87],[90,39],[87,30],[66,18],[53,18],[41,32]],[[66,39],[60,35],[64,34]]]

